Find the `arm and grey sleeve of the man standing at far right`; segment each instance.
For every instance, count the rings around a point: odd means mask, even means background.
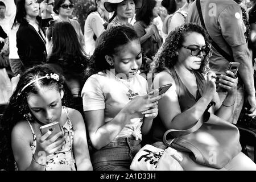
[[[221,27],[223,38],[232,49],[234,61],[241,64],[238,72],[245,86],[247,100],[254,107],[256,106],[256,101],[253,63],[245,41],[241,7],[237,3],[227,6],[218,17],[218,23]]]

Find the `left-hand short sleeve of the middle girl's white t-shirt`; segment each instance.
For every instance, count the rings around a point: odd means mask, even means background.
[[[96,78],[88,78],[82,88],[81,96],[84,111],[105,109],[104,93]]]

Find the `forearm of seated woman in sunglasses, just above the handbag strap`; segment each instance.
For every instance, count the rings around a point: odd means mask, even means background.
[[[210,101],[209,98],[201,97],[191,108],[176,115],[168,129],[186,130],[191,128],[203,116]]]

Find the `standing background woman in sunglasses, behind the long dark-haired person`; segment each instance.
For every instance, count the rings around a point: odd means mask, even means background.
[[[72,0],[55,0],[53,11],[59,15],[57,21],[69,22],[75,28],[77,35],[79,36],[80,44],[84,47],[84,35],[82,34],[81,26],[75,19],[70,19],[72,15],[74,3]]]

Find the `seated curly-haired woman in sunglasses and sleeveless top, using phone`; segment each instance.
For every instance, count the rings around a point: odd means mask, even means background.
[[[211,101],[216,102],[214,114],[228,120],[233,113],[237,94],[237,78],[233,72],[219,76],[218,86],[227,90],[223,103],[216,92],[216,75],[209,71],[210,44],[207,32],[197,24],[185,23],[177,27],[166,39],[151,64],[158,73],[154,84],[172,84],[159,101],[159,118],[152,127],[155,141],[163,140],[168,129],[185,130],[197,123]],[[204,75],[206,79],[204,78]],[[154,145],[158,146],[159,142]],[[187,152],[180,152],[184,170],[214,170],[193,162]],[[256,165],[239,152],[222,170],[255,170]]]

